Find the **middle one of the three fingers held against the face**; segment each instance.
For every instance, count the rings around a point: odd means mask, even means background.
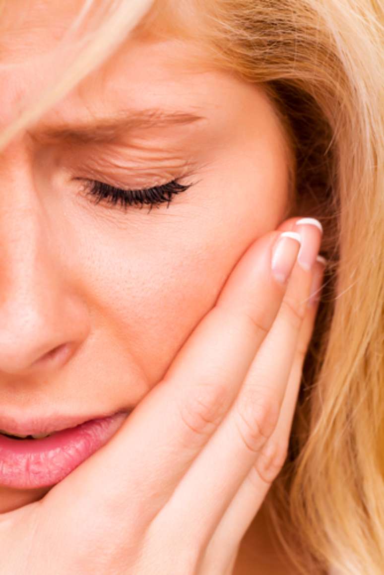
[[[317,251],[321,234],[314,227],[312,234],[311,250],[315,246]],[[191,540],[205,536],[208,542],[212,536],[277,424],[307,308],[312,275],[311,271],[295,266],[281,309],[248,370],[239,396],[176,487],[160,513],[160,524],[179,516],[183,517],[182,524],[178,525],[173,519],[174,528],[190,529]],[[192,493],[194,504],[190,509]],[[168,524],[167,530],[172,532]]]

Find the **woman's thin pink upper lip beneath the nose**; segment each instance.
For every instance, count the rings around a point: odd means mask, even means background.
[[[0,414],[0,429],[10,435],[42,435],[51,434],[55,431],[62,431],[68,427],[76,427],[86,421],[93,419],[104,419],[116,415],[116,413],[126,412],[128,409],[120,411],[98,413],[97,415],[47,415],[29,416],[21,421],[21,418],[11,417],[10,415]]]

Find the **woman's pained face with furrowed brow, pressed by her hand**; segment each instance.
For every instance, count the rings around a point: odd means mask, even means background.
[[[3,21],[0,129],[52,74],[27,56],[55,46],[80,7],[22,4]],[[2,152],[0,417],[83,421],[135,406],[241,254],[281,222],[288,168],[271,104],[204,66],[203,50],[192,66],[192,49],[129,39]],[[151,211],[87,194],[87,181],[174,179],[191,186]],[[0,487],[0,511],[47,490]]]

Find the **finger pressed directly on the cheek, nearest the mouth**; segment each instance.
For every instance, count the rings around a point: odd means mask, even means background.
[[[162,507],[228,411],[281,306],[286,284],[271,271],[272,248],[279,236],[270,232],[247,250],[164,381],[145,396],[106,446],[51,489],[44,504],[54,500],[68,521],[74,513],[91,512],[96,506],[99,513],[120,510],[127,522],[128,513],[139,508],[143,524]],[[287,237],[285,241],[289,270],[299,244]],[[75,510],[74,492],[85,496],[76,498]]]

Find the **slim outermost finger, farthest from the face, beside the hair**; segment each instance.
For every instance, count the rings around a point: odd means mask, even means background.
[[[324,258],[320,258],[314,266],[314,285],[312,292],[321,289],[322,277],[324,274]],[[221,517],[212,539],[206,549],[203,558],[203,573],[211,573],[217,557],[224,566],[231,561],[233,549],[240,545],[245,532],[248,530],[256,513],[258,513],[265,497],[270,489],[272,481],[277,477],[286,459],[286,450],[291,425],[294,416],[295,405],[299,385],[302,378],[302,366],[305,355],[308,351],[310,339],[313,334],[313,325],[316,319],[318,301],[308,306],[306,316],[303,320],[298,336],[298,344],[295,352],[293,366],[290,371],[286,393],[284,396],[279,420],[275,431],[271,435],[272,457],[259,457],[255,466],[252,467],[248,476],[240,486],[240,489],[233,497],[229,507]],[[217,570],[220,572],[220,569]]]

